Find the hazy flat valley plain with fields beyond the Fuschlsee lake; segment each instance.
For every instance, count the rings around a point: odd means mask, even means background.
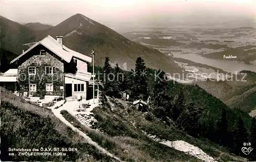
[[[147,47],[158,49],[168,56],[175,58],[187,58],[188,60],[199,60],[197,56],[203,58],[225,60],[221,64],[228,64],[229,61],[245,63],[244,69],[253,69],[256,60],[256,29],[252,27],[240,27],[233,29],[214,28],[209,26],[201,26],[201,28],[193,28],[193,26],[184,28],[165,27],[165,28],[148,28],[133,29],[131,32],[122,33],[123,36],[141,43]],[[189,56],[189,55],[192,56]],[[236,59],[225,59],[223,56],[236,56]],[[192,58],[194,58],[192,60]],[[202,60],[202,59],[201,59]],[[197,61],[197,62],[204,62]],[[210,60],[208,60],[210,62]],[[213,62],[213,61],[212,61]],[[216,64],[209,63],[211,64]],[[229,62],[231,64],[231,62]],[[208,64],[208,63],[206,63]],[[243,65],[243,64],[242,64]],[[219,68],[220,65],[216,65]],[[231,66],[231,68],[234,67]],[[230,71],[230,69],[229,69]],[[230,71],[231,72],[231,71]]]

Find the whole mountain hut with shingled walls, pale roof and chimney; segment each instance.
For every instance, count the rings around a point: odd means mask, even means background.
[[[20,96],[32,93],[40,99],[46,95],[87,99],[91,78],[87,67],[92,59],[59,42],[62,40],[48,36],[11,62],[17,67],[14,85]]]

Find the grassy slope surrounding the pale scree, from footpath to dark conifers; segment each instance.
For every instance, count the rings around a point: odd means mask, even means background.
[[[108,139],[111,139],[111,141],[115,143],[115,145],[112,145],[114,146],[112,148],[108,148],[102,144],[101,146],[105,147],[117,156],[121,155],[120,157],[124,160],[200,161],[194,157],[184,154],[183,152],[152,141],[145,136],[143,131],[165,140],[184,140],[201,148],[204,152],[218,161],[246,160],[229,153],[225,148],[205,139],[199,140],[188,136],[186,133],[178,130],[174,125],[168,126],[163,121],[152,115],[137,112],[130,102],[125,102],[119,99],[110,99],[110,103],[112,106],[110,106],[110,104],[105,104],[100,107],[96,107],[93,110],[94,117],[98,121],[93,125],[93,128],[97,128],[103,132],[100,133],[100,136],[108,137]],[[113,108],[112,110],[111,107]],[[74,118],[72,117],[72,119],[70,116],[71,115],[66,113],[66,119],[69,118],[70,121],[74,121]],[[86,131],[88,132],[88,130]],[[91,135],[89,133],[89,136]],[[97,138],[92,139],[97,142]],[[127,157],[124,156],[122,152],[116,152],[119,147],[124,147],[129,151]],[[124,148],[121,150],[124,150]]]

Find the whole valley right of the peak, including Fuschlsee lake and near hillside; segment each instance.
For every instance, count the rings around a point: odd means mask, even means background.
[[[138,26],[121,34],[161,51],[175,60],[183,71],[190,73],[186,80],[199,85],[233,109],[247,113],[252,111],[252,115],[256,106],[253,101],[256,83],[253,74],[256,72],[255,31],[255,28],[243,25],[227,28],[224,25],[176,23],[171,27]],[[245,82],[235,79],[237,76],[242,78],[241,71],[246,73]]]

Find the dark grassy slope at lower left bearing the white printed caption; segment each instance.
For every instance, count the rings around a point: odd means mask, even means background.
[[[111,160],[89,145],[71,128],[60,122],[50,110],[32,105],[2,90],[1,160],[3,161],[94,161]],[[77,148],[66,156],[8,156],[8,148]],[[15,152],[14,152],[15,153]]]

